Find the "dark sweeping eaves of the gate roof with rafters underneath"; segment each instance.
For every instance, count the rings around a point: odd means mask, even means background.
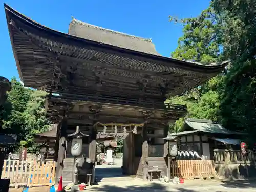
[[[101,44],[44,27],[6,4],[5,11],[19,75],[25,86],[29,87],[38,88],[50,84],[54,68],[50,58],[54,56],[65,56],[81,62],[94,61],[102,63],[103,66],[119,66],[126,70],[154,73],[156,76],[170,76],[175,73],[195,77],[170,91],[170,95],[182,93],[204,83],[227,65],[222,63],[205,66]],[[37,54],[32,54],[35,52]],[[31,60],[34,61],[33,65]]]

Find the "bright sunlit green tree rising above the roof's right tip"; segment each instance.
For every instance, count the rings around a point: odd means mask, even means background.
[[[219,25],[211,7],[198,17],[177,19],[170,16],[170,21],[184,25],[183,36],[179,38],[178,47],[171,57],[205,64],[220,60]]]

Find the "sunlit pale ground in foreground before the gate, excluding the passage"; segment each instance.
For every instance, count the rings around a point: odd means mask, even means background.
[[[116,182],[102,182],[102,184],[94,185],[87,188],[89,192],[252,192],[256,191],[256,182],[242,182],[223,183],[217,181],[207,180],[185,180],[184,184],[170,184],[160,182],[144,182],[139,179],[133,181],[116,181]]]

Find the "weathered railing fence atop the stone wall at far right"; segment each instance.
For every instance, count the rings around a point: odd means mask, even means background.
[[[251,150],[244,156],[240,150],[215,149],[214,160],[216,164],[243,164],[255,162],[256,157]]]

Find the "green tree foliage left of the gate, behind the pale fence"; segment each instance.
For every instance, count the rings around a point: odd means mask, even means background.
[[[33,134],[48,130],[45,114],[46,92],[25,88],[12,78],[12,89],[0,112],[1,133],[17,134],[17,141],[35,151]]]

